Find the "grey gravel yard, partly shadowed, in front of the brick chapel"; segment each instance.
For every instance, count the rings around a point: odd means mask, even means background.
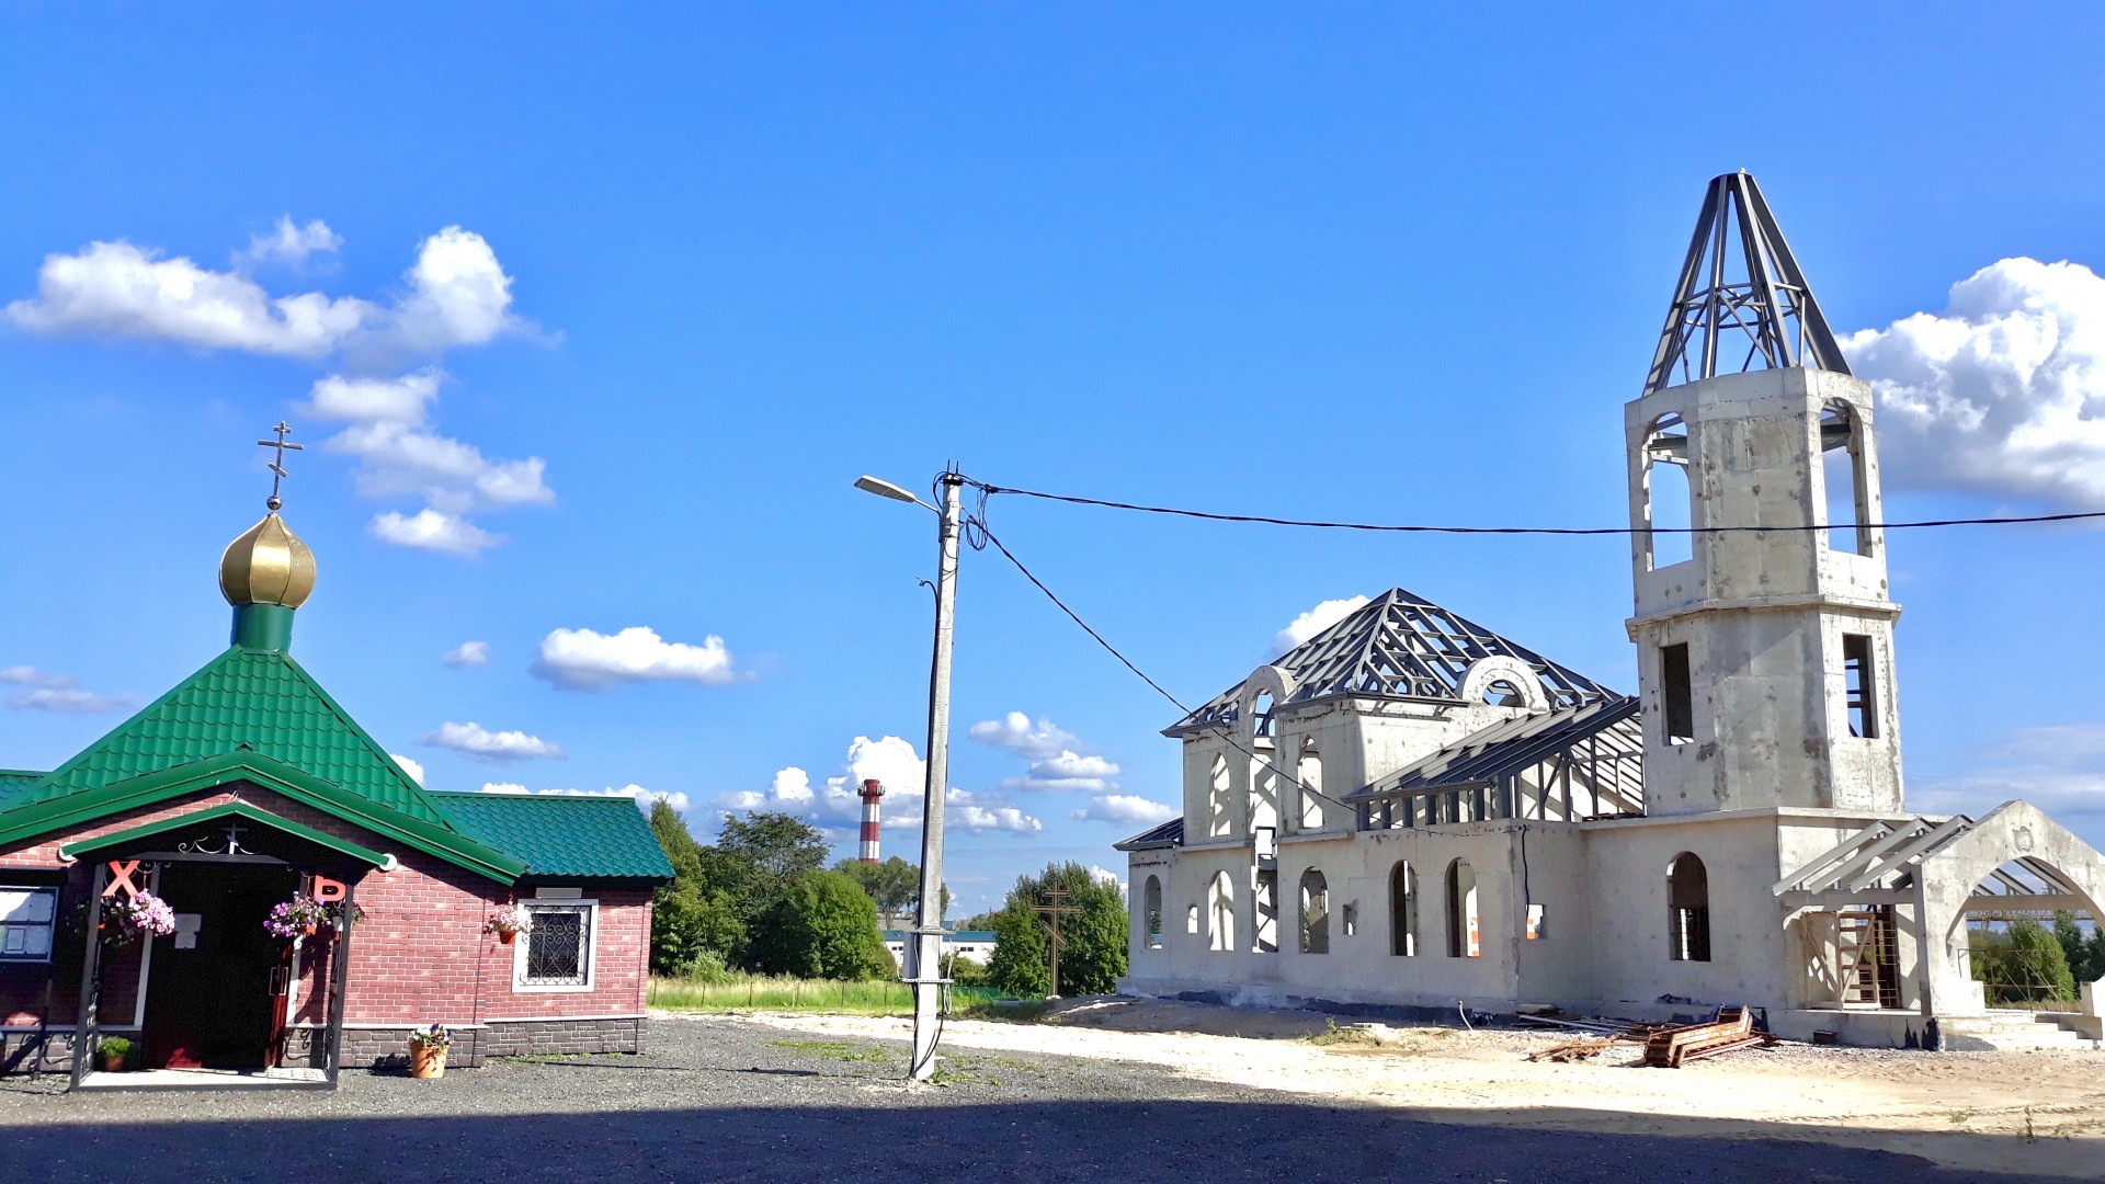
[[[1497,1129],[1194,1081],[735,1018],[653,1020],[646,1055],[509,1060],[328,1091],[65,1096],[0,1079],[0,1180],[2010,1182],[1819,1142]]]

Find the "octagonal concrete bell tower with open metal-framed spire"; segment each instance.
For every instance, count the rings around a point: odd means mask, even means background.
[[[1747,173],[1709,183],[1623,432],[1648,811],[1901,813],[1871,388]]]

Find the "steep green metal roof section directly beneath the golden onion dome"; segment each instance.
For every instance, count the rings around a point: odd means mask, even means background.
[[[8,794],[0,809],[21,809],[223,752],[272,756],[392,811],[453,828],[387,750],[288,653],[242,647],[206,662],[42,782]]]

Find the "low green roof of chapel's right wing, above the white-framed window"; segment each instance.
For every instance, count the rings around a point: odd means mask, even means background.
[[[535,879],[669,881],[671,860],[636,809],[608,794],[427,794],[472,838]]]

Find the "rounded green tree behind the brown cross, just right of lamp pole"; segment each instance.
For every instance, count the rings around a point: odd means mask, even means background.
[[[1061,904],[1080,908],[1061,916],[1057,988],[1050,919],[1031,912],[1034,906],[1048,904],[1048,889],[1063,889]],[[1017,887],[1008,889],[1008,900],[991,921],[994,956],[987,961],[987,980],[1008,994],[1109,994],[1126,973],[1126,897],[1118,885],[1099,881],[1082,864],[1046,864],[1036,876],[1017,876]]]

